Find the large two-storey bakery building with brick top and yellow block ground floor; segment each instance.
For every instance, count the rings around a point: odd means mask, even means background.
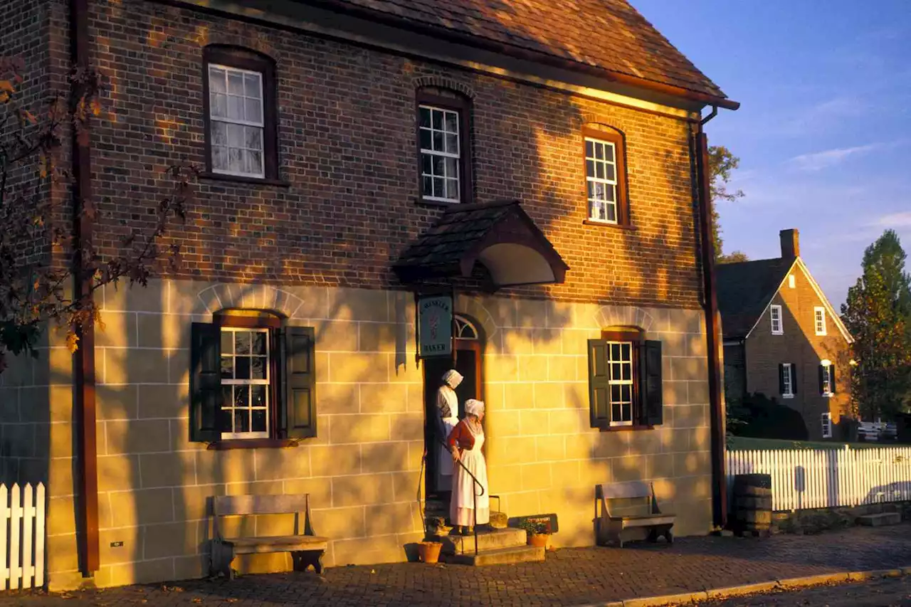
[[[42,96],[70,47],[109,78],[80,169],[102,252],[168,195],[166,166],[204,168],[169,232],[182,268],[100,293],[75,360],[52,333],[0,375],[4,479],[48,484],[51,587],[205,575],[226,493],[310,493],[329,566],[404,560],[453,364],[511,516],[591,544],[594,485],[645,479],[680,534],[709,531],[723,411],[693,192],[701,110],[737,104],[622,0],[252,5],[3,17]],[[454,294],[457,356],[417,365],[431,287]]]

